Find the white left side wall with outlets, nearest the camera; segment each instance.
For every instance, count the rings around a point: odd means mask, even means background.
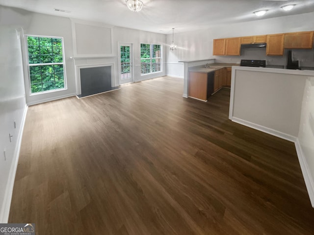
[[[15,28],[0,18],[0,223],[8,219],[27,109],[20,32]]]

